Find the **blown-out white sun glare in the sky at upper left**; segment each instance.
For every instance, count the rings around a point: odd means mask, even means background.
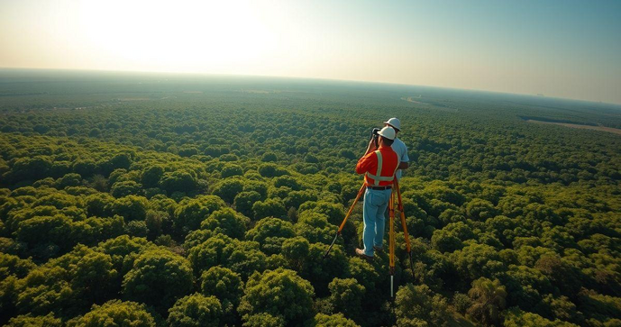
[[[138,66],[230,71],[274,45],[260,7],[247,1],[85,1],[80,24],[93,50]],[[187,67],[183,67],[183,65]]]

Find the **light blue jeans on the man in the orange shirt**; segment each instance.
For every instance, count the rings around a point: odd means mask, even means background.
[[[374,190],[367,188],[364,193],[362,216],[364,220],[364,254],[373,257],[373,245],[382,247],[384,227],[386,226],[386,208],[390,200],[391,190]]]

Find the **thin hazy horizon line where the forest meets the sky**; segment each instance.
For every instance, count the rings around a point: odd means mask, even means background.
[[[468,91],[475,93],[490,93],[495,95],[519,95],[526,97],[534,97],[540,99],[551,99],[551,100],[563,100],[563,101],[575,101],[582,102],[588,104],[609,104],[615,106],[621,106],[621,103],[608,103],[604,101],[596,101],[596,100],[585,100],[585,99],[577,99],[577,98],[569,98],[569,97],[558,97],[558,96],[548,96],[543,94],[527,94],[527,93],[511,93],[511,92],[501,92],[501,91],[491,91],[477,88],[459,88],[459,87],[449,87],[449,86],[431,86],[431,85],[416,85],[416,84],[404,84],[404,83],[395,83],[395,82],[383,82],[383,81],[370,81],[370,80],[361,80],[361,79],[340,79],[340,78],[325,78],[325,77],[298,77],[298,76],[276,76],[276,75],[252,75],[252,74],[215,74],[215,73],[207,73],[207,72],[188,72],[188,71],[170,71],[170,70],[119,70],[119,69],[97,69],[97,68],[33,68],[33,67],[0,67],[0,70],[6,69],[14,69],[14,70],[58,70],[58,71],[81,71],[81,72],[109,72],[109,73],[149,73],[149,74],[178,74],[178,75],[194,75],[194,76],[202,76],[202,77],[264,77],[264,78],[289,78],[289,79],[301,79],[301,80],[317,80],[317,81],[329,81],[329,82],[347,82],[354,84],[375,84],[375,85],[386,85],[386,86],[416,86],[416,87],[430,87],[430,88],[439,88],[444,90],[452,90],[452,91]]]

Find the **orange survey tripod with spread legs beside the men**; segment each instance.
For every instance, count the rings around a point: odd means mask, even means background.
[[[356,206],[358,200],[360,200],[361,195],[364,194],[366,185],[362,184],[360,191],[358,191],[358,195],[356,195],[356,199],[353,200],[352,207],[345,214],[345,219],[342,220],[341,226],[339,226],[339,230],[336,231],[336,235],[334,235],[334,240],[328,250],[325,251],[324,259],[330,254],[330,250],[338,239],[339,235],[341,235],[342,229],[345,227],[345,223],[347,223],[347,218],[350,217],[353,211],[353,207]],[[397,191],[397,192],[395,192]],[[393,297],[393,282],[395,279],[395,194],[397,195],[397,208],[399,209],[399,213],[401,213],[401,227],[403,228],[403,235],[406,239],[406,250],[407,255],[410,259],[410,268],[412,269],[412,274],[414,274],[414,263],[412,262],[412,248],[410,246],[410,237],[407,233],[407,225],[406,225],[406,213],[403,211],[403,201],[401,200],[401,190],[399,189],[399,182],[397,181],[397,177],[393,180],[392,184],[392,192],[390,192],[390,200],[388,200],[388,224],[389,224],[389,232],[388,232],[388,259],[389,259],[389,270],[390,270],[390,297]]]

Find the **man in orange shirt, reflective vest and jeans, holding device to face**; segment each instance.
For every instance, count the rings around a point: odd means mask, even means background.
[[[356,249],[356,254],[364,259],[372,259],[374,251],[382,250],[386,208],[392,192],[392,182],[398,167],[397,153],[390,147],[395,140],[395,130],[386,126],[378,132],[378,145],[371,138],[367,152],[356,165],[357,174],[365,174],[364,185],[364,249]]]

